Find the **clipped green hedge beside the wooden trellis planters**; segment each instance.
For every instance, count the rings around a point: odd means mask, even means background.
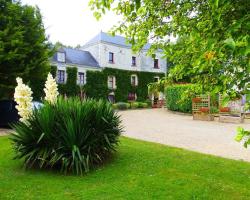
[[[165,88],[166,107],[172,111],[191,113],[192,99],[183,99],[183,94],[190,89],[191,85],[173,85]]]

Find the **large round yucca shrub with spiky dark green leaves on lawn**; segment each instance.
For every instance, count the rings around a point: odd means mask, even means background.
[[[34,110],[27,123],[13,125],[11,140],[26,167],[83,174],[115,151],[120,122],[106,101],[59,98],[55,105]]]

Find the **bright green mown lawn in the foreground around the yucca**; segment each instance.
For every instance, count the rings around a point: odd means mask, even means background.
[[[121,139],[114,160],[82,177],[24,170],[0,137],[0,199],[250,199],[250,163]]]

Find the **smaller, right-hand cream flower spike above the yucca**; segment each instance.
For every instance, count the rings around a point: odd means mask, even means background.
[[[47,81],[45,83],[44,92],[45,100],[48,101],[50,104],[55,104],[59,93],[56,80],[52,77],[50,73],[48,74]]]

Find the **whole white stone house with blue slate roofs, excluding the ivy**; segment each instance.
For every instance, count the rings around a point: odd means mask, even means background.
[[[133,53],[131,45],[121,36],[111,36],[100,32],[87,42],[81,49],[60,48],[54,54],[51,63],[57,66],[58,83],[66,83],[66,67],[77,67],[78,84],[86,83],[88,70],[115,68],[131,71],[144,71],[156,73],[155,81],[159,79],[157,73],[166,73],[167,60],[162,58],[161,51],[155,53],[155,58],[147,56],[150,44],[146,44],[139,53]],[[108,78],[108,87],[116,86],[115,77]],[[136,76],[131,76],[131,84],[137,84]]]

